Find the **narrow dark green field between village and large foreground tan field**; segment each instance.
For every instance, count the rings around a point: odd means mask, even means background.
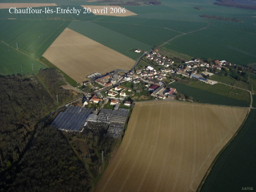
[[[211,93],[208,91],[201,90],[199,88],[194,88],[187,86],[185,84],[174,82],[168,85],[169,87],[176,88],[179,93],[185,96],[192,96],[194,100],[200,103],[209,103],[214,105],[228,105],[228,106],[238,106],[238,107],[248,107],[249,103],[243,100],[236,100],[227,96],[219,95],[216,93]]]

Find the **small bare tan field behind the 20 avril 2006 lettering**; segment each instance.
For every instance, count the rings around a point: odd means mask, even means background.
[[[125,13],[114,13],[115,8],[117,8],[117,9],[124,8],[124,7],[120,7],[120,6],[111,6],[111,5],[108,5],[108,6],[107,5],[106,6],[104,6],[104,5],[81,5],[81,6],[85,7],[86,9],[90,8],[91,13],[93,13],[94,15],[109,15],[109,16],[117,16],[117,17],[126,17],[126,16],[131,16],[131,15],[137,15],[136,13],[131,12],[131,11],[127,10],[126,8],[124,9]],[[111,9],[111,8],[113,8],[113,9]],[[94,12],[94,10],[96,12]],[[97,10],[99,10],[100,13]],[[102,10],[102,13],[100,10]],[[105,13],[104,13],[104,10],[105,10]],[[111,13],[111,12],[113,12],[113,13]]]

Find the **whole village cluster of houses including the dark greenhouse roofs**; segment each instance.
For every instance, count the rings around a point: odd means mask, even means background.
[[[208,64],[200,59],[175,63],[159,54],[157,49],[152,52],[136,49],[135,52],[144,54],[142,60],[148,64],[145,68],[116,69],[105,75],[93,73],[87,76],[91,81],[84,81],[76,88],[84,92],[83,97],[66,105],[52,125],[66,132],[120,138],[135,100],[193,101],[181,97],[178,90],[172,88],[175,79],[187,78],[213,85],[218,82],[208,78],[231,65],[225,60]]]

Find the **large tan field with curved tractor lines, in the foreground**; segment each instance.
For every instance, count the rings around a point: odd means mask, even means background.
[[[196,191],[247,111],[178,101],[136,103],[95,191]]]

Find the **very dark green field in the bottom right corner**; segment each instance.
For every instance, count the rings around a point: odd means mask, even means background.
[[[207,177],[201,192],[243,191],[256,187],[256,110],[252,109],[235,139],[220,155]]]

